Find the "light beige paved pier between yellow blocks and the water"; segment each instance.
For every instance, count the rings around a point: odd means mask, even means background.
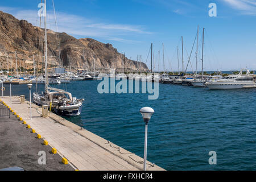
[[[20,104],[18,96],[1,97],[23,121],[26,121],[36,133],[46,139],[49,146],[56,148],[57,153],[68,160],[71,166],[80,171],[138,171],[143,170],[143,159],[106,139],[82,129],[56,114],[42,118],[42,108],[32,104],[32,120],[30,105],[26,101]],[[1,118],[0,118],[1,119]],[[18,119],[17,119],[18,122]],[[21,122],[21,121],[20,121]],[[147,162],[148,171],[164,170]]]

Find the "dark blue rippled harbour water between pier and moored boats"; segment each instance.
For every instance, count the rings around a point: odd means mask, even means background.
[[[148,100],[147,94],[99,94],[99,82],[57,86],[85,98],[82,114],[69,121],[143,158],[139,110],[149,106],[155,110],[148,125],[150,162],[167,170],[256,169],[256,89],[159,84],[159,99]],[[8,94],[9,85],[5,87]],[[12,90],[28,99],[26,85],[13,85]],[[209,165],[209,151],[217,152],[217,165]]]

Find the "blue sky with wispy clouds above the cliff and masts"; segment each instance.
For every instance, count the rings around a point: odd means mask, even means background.
[[[38,26],[38,3],[40,0],[1,1],[0,10]],[[56,31],[52,0],[47,3],[48,28]],[[162,43],[165,68],[177,71],[176,47],[179,46],[181,59],[181,36],[184,62],[188,63],[198,25],[200,59],[205,28],[205,70],[256,69],[256,0],[55,0],[54,3],[60,32],[111,43],[133,60],[142,55],[144,62],[152,42],[156,71],[159,50],[163,70]],[[209,3],[216,3],[217,17],[208,15]],[[148,67],[149,63],[148,59]],[[188,70],[195,71],[195,49]]]

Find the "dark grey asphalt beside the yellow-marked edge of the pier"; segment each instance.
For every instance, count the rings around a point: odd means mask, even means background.
[[[4,106],[0,104],[0,108]],[[61,163],[59,154],[51,154],[52,147],[44,146],[43,139],[36,138],[36,134],[13,114],[10,118],[0,117],[0,139],[0,169],[20,167],[26,171],[75,171],[69,164]],[[43,154],[39,152],[44,152],[46,164],[38,163]]]

